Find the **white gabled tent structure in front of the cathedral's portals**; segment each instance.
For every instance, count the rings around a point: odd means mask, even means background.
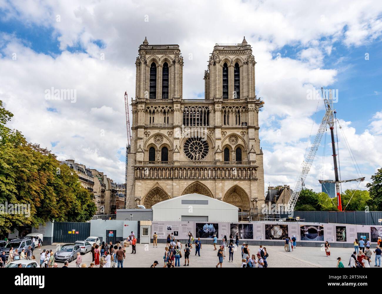
[[[197,193],[154,204],[152,212],[153,221],[238,222],[238,207]]]

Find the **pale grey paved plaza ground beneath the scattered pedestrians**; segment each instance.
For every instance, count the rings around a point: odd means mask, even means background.
[[[51,246],[42,246],[42,249],[52,249],[55,251],[56,244]],[[183,247],[184,248],[184,247]],[[215,267],[218,263],[217,251],[213,250],[213,246],[210,244],[202,245],[201,256],[195,256],[195,249],[191,250],[190,265],[184,267],[184,252],[182,251],[183,258],[181,258],[181,268],[189,267]],[[283,246],[267,246],[267,252],[269,257],[267,258],[268,267],[336,267],[337,257],[342,258],[342,263],[345,267],[348,267],[349,258],[353,253],[352,248],[334,248],[332,247],[330,257],[326,257],[325,251],[320,247],[297,247],[293,252],[284,252]],[[256,253],[259,246],[249,246],[250,253]],[[240,267],[241,265],[241,247],[234,253],[234,262],[228,262],[228,248],[227,255],[223,261],[223,267]],[[36,260],[39,260],[40,250],[35,250],[34,255]],[[163,255],[165,252],[165,244],[158,244],[158,247],[153,248],[152,244],[137,244],[136,254],[130,254],[131,247],[127,248],[126,259],[123,262],[124,267],[150,267],[150,265],[157,260],[159,262],[158,267],[162,267]],[[87,253],[82,255],[83,263],[87,266],[92,262],[92,255]],[[371,257],[371,267],[374,268],[374,253]],[[63,266],[63,262],[57,262],[58,267]],[[76,267],[75,261],[69,263],[69,267]]]

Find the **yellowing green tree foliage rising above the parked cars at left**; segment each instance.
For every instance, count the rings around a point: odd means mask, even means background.
[[[30,204],[31,209],[30,216],[0,213],[0,235],[52,219],[89,220],[96,211],[92,194],[49,150],[6,127],[12,116],[0,100],[0,204]]]

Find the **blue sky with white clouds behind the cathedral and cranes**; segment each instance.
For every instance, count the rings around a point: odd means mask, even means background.
[[[180,45],[183,98],[201,99],[215,43],[240,43],[245,35],[257,61],[256,95],[265,102],[260,113],[265,183],[294,184],[324,115],[322,101],[315,113],[318,101],[306,99],[312,87],[338,89],[337,118],[368,181],[382,165],[382,5],[349,1],[338,11],[338,3],[325,1],[315,7],[304,1],[230,2],[241,11],[237,19],[224,18],[231,10],[219,3],[168,2],[171,23],[177,23],[170,26],[159,3],[0,0],[0,99],[15,114],[11,127],[60,160],[75,158],[123,182],[123,93],[135,95],[134,62],[144,37],[150,44]],[[185,9],[186,15],[180,13]],[[45,100],[44,90],[51,87],[76,89],[76,103]],[[324,166],[322,152],[321,147],[306,182],[316,191],[320,175],[333,174],[330,149]],[[340,136],[343,178],[356,177],[346,153]]]

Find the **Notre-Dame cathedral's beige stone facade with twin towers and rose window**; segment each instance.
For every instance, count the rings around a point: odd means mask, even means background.
[[[183,99],[179,45],[139,46],[128,208],[199,193],[253,211],[264,204],[263,153],[251,46],[216,44],[204,99]],[[201,77],[202,78],[202,77]]]

